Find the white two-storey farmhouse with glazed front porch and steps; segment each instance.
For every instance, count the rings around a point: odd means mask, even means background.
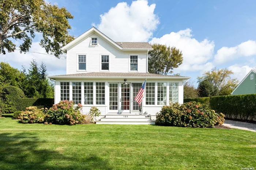
[[[93,27],[61,50],[67,54],[67,73],[48,76],[56,81],[55,103],[81,103],[83,114],[95,106],[101,111],[97,123],[154,124],[162,106],[183,103],[189,77],[148,73],[149,43],[115,42]],[[139,106],[134,98],[146,79]]]

